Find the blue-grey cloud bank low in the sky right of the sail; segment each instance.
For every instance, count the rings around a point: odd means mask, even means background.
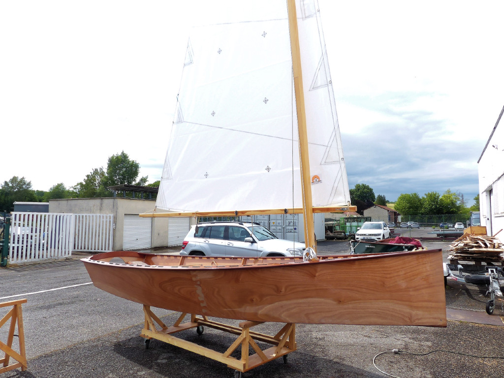
[[[443,194],[449,188],[466,200],[476,196],[480,148],[473,141],[452,138],[449,121],[415,106],[429,96],[389,92],[346,98],[355,108],[387,119],[369,122],[357,133],[341,126],[350,187],[366,183],[392,201],[403,193]]]

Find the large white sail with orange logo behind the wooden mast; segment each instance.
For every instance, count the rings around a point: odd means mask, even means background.
[[[264,3],[261,16],[241,12],[237,22],[192,33],[157,208],[302,207],[287,6],[273,3]],[[313,206],[345,206],[350,196],[319,8],[313,0],[296,6]]]

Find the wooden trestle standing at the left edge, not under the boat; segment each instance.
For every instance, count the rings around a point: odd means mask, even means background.
[[[21,310],[21,304],[26,302],[26,299],[18,299],[12,300],[10,302],[0,303],[0,307],[12,306],[11,310],[7,312],[7,314],[2,319],[0,319],[0,328],[2,328],[9,321],[9,319],[11,320],[9,334],[7,336],[7,344],[0,341],[0,350],[5,352],[4,358],[0,358],[0,364],[2,364],[0,365],[0,373],[13,370],[18,367],[21,367],[22,371],[25,371],[27,368],[25,334],[23,329],[23,312]],[[18,325],[17,335],[14,334],[14,332],[16,331],[16,323]],[[14,336],[18,336],[19,339],[19,353],[12,349]],[[11,357],[17,362],[9,365]]]

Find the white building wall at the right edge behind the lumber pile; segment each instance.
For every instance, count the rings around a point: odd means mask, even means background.
[[[504,230],[504,124],[499,124],[502,113],[504,108],[478,160],[481,225],[486,226],[487,235]],[[504,231],[498,236],[504,240]]]

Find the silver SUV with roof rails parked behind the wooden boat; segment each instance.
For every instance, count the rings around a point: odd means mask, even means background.
[[[303,243],[279,239],[259,223],[206,222],[191,227],[180,255],[302,256],[303,250]]]

